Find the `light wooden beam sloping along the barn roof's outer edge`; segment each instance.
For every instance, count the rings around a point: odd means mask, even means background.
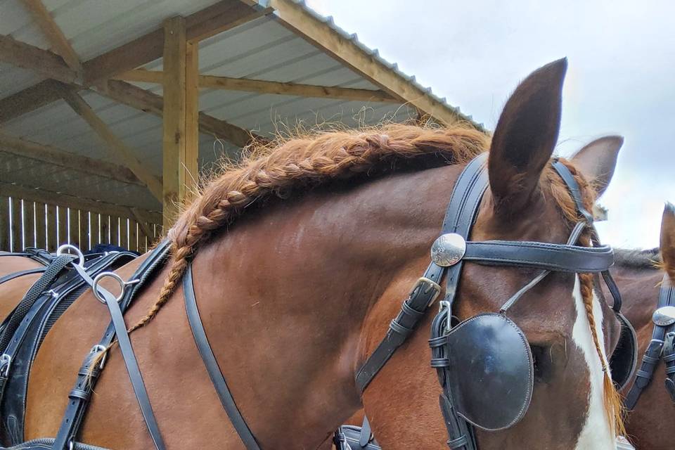
[[[437,120],[446,124],[468,122],[478,127],[470,117],[455,108],[449,108],[437,101],[428,92],[388,68],[378,58],[368,55],[353,41],[332,30],[326,23],[316,18],[300,3],[293,0],[269,0],[274,8],[274,16],[281,25],[307,39],[321,51],[355,70],[394,97],[401,98]]]

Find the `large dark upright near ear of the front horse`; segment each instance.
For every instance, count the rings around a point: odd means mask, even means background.
[[[513,215],[529,204],[560,129],[567,59],[532,72],[499,116],[488,161],[495,211]]]

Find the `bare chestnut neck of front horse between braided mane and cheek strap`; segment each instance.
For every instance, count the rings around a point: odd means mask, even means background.
[[[359,408],[354,372],[366,313],[411,261],[428,262],[456,172],[278,204],[201,250],[200,311],[234,397],[260,411],[250,424],[257,434],[299,423],[320,434]]]

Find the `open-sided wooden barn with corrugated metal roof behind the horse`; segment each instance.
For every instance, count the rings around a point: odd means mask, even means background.
[[[0,0],[0,250],[143,252],[200,169],[296,124],[470,121],[293,0]]]

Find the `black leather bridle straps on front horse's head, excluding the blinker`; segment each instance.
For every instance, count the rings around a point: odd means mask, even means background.
[[[581,193],[574,176],[561,162],[553,162],[553,168],[567,184],[577,203],[577,210],[584,217],[584,220],[572,230],[567,244],[468,240],[480,201],[488,186],[486,159],[485,154],[475,158],[459,176],[443,222],[442,236],[435,243],[435,246],[439,248],[432,250],[431,264],[416,283],[409,298],[403,302],[401,311],[392,321],[385,338],[356,373],[356,385],[360,392],[364,392],[375,375],[411,335],[420,319],[425,316],[426,311],[441,292],[439,282],[445,275],[445,297],[442,301],[442,308],[432,323],[430,346],[432,347],[432,366],[437,368],[439,382],[443,388],[440,405],[449,436],[447,444],[451,449],[457,450],[477,449],[472,425],[457,411],[458,392],[453,392],[451,389],[449,359],[446,354],[446,352],[452,352],[452,348],[445,345],[446,336],[453,329],[448,317],[452,314],[463,262],[541,269],[532,281],[503,304],[500,314],[506,314],[509,307],[551,271],[602,273],[603,278],[610,285],[612,295],[615,295],[613,308],[618,313],[621,307],[618,290],[608,273],[608,269],[613,264],[612,249],[605,245],[591,248],[574,245],[584,229],[592,228],[592,215],[581,203]],[[444,241],[449,245],[445,245]]]

